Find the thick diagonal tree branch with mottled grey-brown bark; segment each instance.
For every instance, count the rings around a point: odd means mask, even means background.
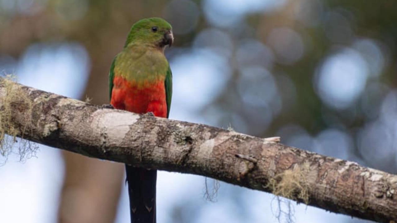
[[[397,176],[357,163],[208,125],[101,108],[5,80],[0,103],[6,133],[27,140],[213,177],[353,217],[397,221]]]

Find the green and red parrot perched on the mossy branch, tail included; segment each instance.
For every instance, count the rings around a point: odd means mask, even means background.
[[[110,105],[115,109],[168,118],[172,73],[164,55],[173,43],[170,23],[141,19],[132,25],[109,72]],[[131,223],[156,223],[157,170],[125,164]]]

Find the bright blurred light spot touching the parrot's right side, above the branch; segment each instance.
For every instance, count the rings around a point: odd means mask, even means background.
[[[198,112],[222,92],[230,72],[226,64],[226,58],[205,49],[171,60],[173,73],[178,74],[173,77],[173,85],[179,86],[173,89],[172,115],[176,119],[191,120],[183,114]]]

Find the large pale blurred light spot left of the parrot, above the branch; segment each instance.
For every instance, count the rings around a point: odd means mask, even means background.
[[[83,93],[88,72],[87,51],[76,43],[59,46],[33,44],[21,57],[15,70],[20,83],[71,98],[79,98]],[[76,90],[71,92],[70,86]]]

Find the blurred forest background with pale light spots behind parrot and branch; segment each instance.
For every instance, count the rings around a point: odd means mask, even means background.
[[[171,119],[397,173],[396,12],[389,0],[0,0],[0,71],[108,104],[110,63],[131,25],[164,17],[175,36]],[[46,146],[25,162],[10,155],[0,222],[128,223],[123,180],[120,163]],[[364,222],[225,183],[210,201],[205,187],[161,171],[158,222]]]

